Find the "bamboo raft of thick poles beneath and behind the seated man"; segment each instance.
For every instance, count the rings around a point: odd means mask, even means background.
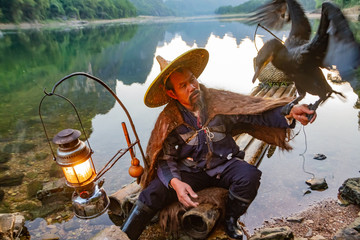
[[[250,95],[259,96],[264,98],[280,98],[280,97],[292,97],[296,94],[296,88],[294,84],[269,84],[260,83]],[[241,150],[245,151],[245,161],[258,167],[265,155],[268,152],[268,157],[272,155],[275,151],[275,146],[270,146],[269,144],[255,139],[254,137],[248,134],[240,134],[234,137],[236,143]],[[110,198],[109,206],[109,216],[117,216],[125,219],[132,205],[138,198],[138,195],[141,191],[141,187],[133,182],[126,185],[116,193],[112,194]],[[204,191],[204,190],[202,190]],[[198,193],[201,198],[201,192]],[[211,191],[211,189],[210,189]],[[224,191],[219,191],[219,198],[224,198]],[[209,194],[209,191],[204,191],[204,194]],[[220,201],[221,202],[221,201]],[[222,201],[224,202],[224,201]],[[175,207],[179,206],[179,203],[172,204]],[[170,207],[172,207],[170,205]],[[223,206],[224,207],[224,206]],[[221,219],[221,211],[223,207],[214,206],[211,204],[202,204],[197,208],[192,208],[186,211],[181,218],[181,227],[182,231],[195,239],[206,239],[209,240],[221,240],[228,239],[227,235],[223,230],[223,224],[217,224],[219,219]],[[167,207],[169,208],[169,207]],[[160,212],[160,217],[162,213]],[[193,225],[191,225],[193,224]],[[170,224],[171,225],[171,224]],[[147,229],[143,232],[140,239],[165,239],[168,233],[163,232],[160,229],[160,224],[154,223],[150,224]],[[181,233],[180,233],[181,234]],[[172,238],[175,239],[175,238]]]

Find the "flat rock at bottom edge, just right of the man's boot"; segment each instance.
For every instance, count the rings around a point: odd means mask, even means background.
[[[289,227],[264,228],[256,232],[249,240],[292,240],[294,234]]]

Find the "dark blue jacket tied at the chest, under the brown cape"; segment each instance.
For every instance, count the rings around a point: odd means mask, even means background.
[[[159,155],[157,174],[165,186],[169,186],[172,178],[181,180],[180,171],[206,171],[209,176],[216,176],[233,161],[244,159],[245,153],[231,135],[237,123],[278,128],[295,126],[295,121],[289,125],[281,115],[281,107],[259,115],[217,115],[206,127],[202,125],[207,120],[206,108],[201,111],[201,119],[179,103],[178,108],[185,124],[169,134]]]

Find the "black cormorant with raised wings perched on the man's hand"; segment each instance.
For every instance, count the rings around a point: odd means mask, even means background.
[[[271,29],[280,29],[290,21],[291,30],[284,44],[272,39],[258,52],[252,80],[255,82],[262,69],[272,62],[295,83],[299,96],[283,108],[284,115],[306,93],[320,97],[309,105],[312,110],[316,110],[332,93],[344,97],[330,87],[320,67],[332,68],[335,65],[342,79],[351,82],[356,81],[354,71],[360,65],[360,45],[340,9],[330,2],[322,4],[320,25],[312,40],[310,23],[296,0],[273,0],[260,7],[251,19],[252,23]]]

